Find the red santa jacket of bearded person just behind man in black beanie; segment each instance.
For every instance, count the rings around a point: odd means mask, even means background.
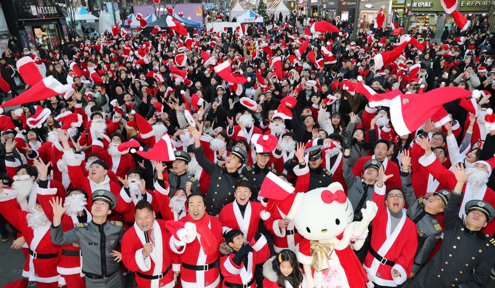
[[[132,155],[129,153],[119,153],[117,156],[111,156],[107,150],[103,149],[103,142],[97,139],[93,140],[91,147],[91,151],[100,156],[100,158],[107,163],[108,168],[112,170],[117,177],[125,179],[129,170],[136,169],[134,158],[132,158]]]

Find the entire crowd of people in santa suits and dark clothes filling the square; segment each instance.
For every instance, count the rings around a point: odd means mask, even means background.
[[[28,100],[0,116],[0,232],[23,250],[22,275],[40,288],[306,287],[305,227],[259,196],[274,173],[296,193],[339,182],[354,221],[378,205],[356,251],[367,280],[316,286],[495,279],[495,34],[351,39],[347,22],[317,20],[193,34],[170,19],[52,51],[11,38],[0,87]],[[16,95],[28,64],[73,93]],[[445,115],[404,134],[374,100],[395,92],[411,95],[402,107],[434,95],[418,107]]]

